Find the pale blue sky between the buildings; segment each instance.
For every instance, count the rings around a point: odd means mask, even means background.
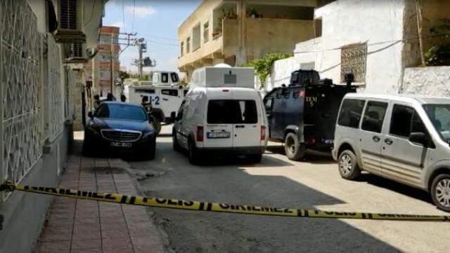
[[[103,25],[117,26],[120,27],[120,32],[136,32],[137,38],[145,38],[148,50],[144,57],[156,60],[154,70],[178,71],[178,27],[200,2],[201,0],[110,0],[105,6]],[[127,67],[127,71],[137,71],[136,66],[131,65],[137,57],[137,47],[129,46],[120,55],[120,66]],[[144,71],[150,70],[144,68]]]

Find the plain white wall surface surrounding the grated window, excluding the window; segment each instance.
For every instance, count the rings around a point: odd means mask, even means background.
[[[339,48],[367,42],[366,92],[397,93],[402,80],[403,42],[380,42],[403,39],[403,16],[404,0],[339,0],[316,9],[315,17],[322,19],[321,38],[298,43],[294,59],[277,61],[266,86],[281,85],[290,71],[310,62],[321,78],[340,83]]]

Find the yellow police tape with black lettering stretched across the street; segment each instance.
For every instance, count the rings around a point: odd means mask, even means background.
[[[283,217],[311,217],[331,219],[378,219],[398,221],[450,221],[450,216],[416,215],[416,214],[378,214],[370,212],[330,212],[321,210],[305,210],[295,208],[259,207],[255,205],[233,205],[223,203],[208,203],[191,200],[176,200],[168,198],[150,198],[143,196],[127,196],[116,193],[100,193],[94,191],[77,191],[52,187],[21,186],[7,182],[0,190],[26,191],[53,196],[64,196],[83,200],[96,200],[128,205],[143,205],[148,207],[166,207],[181,210],[230,212],[235,214],[259,214]]]

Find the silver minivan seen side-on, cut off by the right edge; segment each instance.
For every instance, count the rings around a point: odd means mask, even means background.
[[[430,192],[450,212],[450,99],[348,94],[335,130],[340,175],[361,171]]]

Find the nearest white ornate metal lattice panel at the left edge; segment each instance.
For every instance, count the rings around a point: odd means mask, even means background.
[[[42,40],[25,0],[1,0],[0,19],[0,182],[20,182],[42,154]]]

